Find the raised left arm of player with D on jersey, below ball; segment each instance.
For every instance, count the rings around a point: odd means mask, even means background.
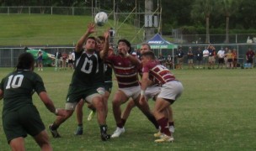
[[[88,39],[88,36],[95,32],[94,28],[95,28],[95,24],[94,23],[89,23],[88,24],[88,29],[87,29],[86,33],[83,34],[83,36],[77,42],[76,49],[75,49],[75,51],[77,53],[81,52],[83,50],[83,44]]]

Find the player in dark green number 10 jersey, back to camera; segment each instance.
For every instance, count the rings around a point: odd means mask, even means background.
[[[24,138],[31,135],[41,150],[51,151],[40,113],[33,104],[36,92],[47,109],[57,116],[67,116],[63,109],[56,109],[48,96],[42,78],[34,72],[34,56],[19,55],[16,69],[0,83],[0,100],[3,99],[3,131],[12,150],[25,150]]]

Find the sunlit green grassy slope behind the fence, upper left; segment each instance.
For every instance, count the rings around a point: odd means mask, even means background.
[[[90,22],[93,22],[91,16],[0,14],[0,46],[76,44]],[[104,27],[97,27],[95,35],[102,35],[104,30],[114,27],[113,24],[109,20]],[[133,39],[136,35],[134,26],[124,23],[115,29],[120,29],[116,31],[118,37],[134,42],[139,40]]]

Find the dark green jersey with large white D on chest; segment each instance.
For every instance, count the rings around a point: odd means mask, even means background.
[[[99,52],[89,55],[76,53],[76,68],[72,75],[71,86],[90,87],[95,83],[104,83],[104,66]]]

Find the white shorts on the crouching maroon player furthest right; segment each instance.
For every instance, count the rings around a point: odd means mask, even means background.
[[[180,81],[169,81],[164,84],[157,97],[175,101],[184,90]]]

